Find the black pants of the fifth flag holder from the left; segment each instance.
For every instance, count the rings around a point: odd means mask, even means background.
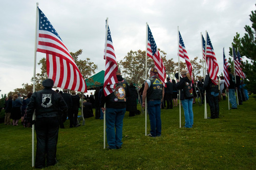
[[[210,92],[207,92],[207,101],[210,106],[210,117],[211,118],[219,118],[219,101],[218,96],[213,96]]]

